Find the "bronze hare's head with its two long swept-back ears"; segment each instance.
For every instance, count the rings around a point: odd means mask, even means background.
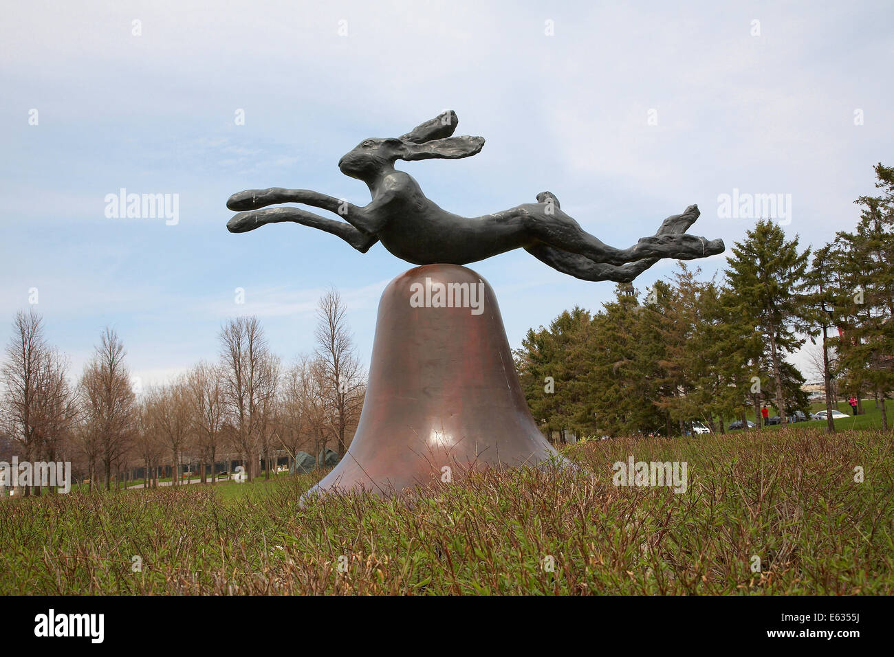
[[[375,181],[382,173],[392,169],[397,160],[474,156],[484,147],[485,139],[451,137],[459,122],[456,113],[450,110],[417,125],[401,137],[364,139],[339,160],[338,168],[351,178]]]

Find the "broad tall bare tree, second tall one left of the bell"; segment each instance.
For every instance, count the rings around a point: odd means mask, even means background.
[[[218,336],[225,419],[233,427],[234,447],[247,464],[249,481],[257,474],[258,451],[267,440],[276,394],[276,358],[257,317],[236,317]]]

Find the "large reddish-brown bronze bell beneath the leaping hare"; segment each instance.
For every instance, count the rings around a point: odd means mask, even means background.
[[[425,265],[385,288],[357,432],[307,494],[387,496],[544,462],[569,465],[527,408],[490,284],[467,267]]]

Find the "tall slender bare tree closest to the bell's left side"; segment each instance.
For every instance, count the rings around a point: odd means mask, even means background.
[[[363,405],[363,376],[346,311],[338,291],[327,291],[317,305],[314,333],[317,362],[329,401],[330,425],[340,457],[347,451],[346,435],[356,424]]]

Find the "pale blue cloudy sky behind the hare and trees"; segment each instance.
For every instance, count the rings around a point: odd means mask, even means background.
[[[791,194],[786,231],[821,244],[856,223],[872,165],[892,160],[887,2],[216,5],[4,10],[3,341],[38,288],[73,375],[111,324],[133,373],[151,383],[214,358],[228,316],[260,316],[283,358],[311,350],[316,299],[334,285],[368,362],[379,293],[409,265],[381,245],[360,255],[298,225],[231,234],[224,203],[275,186],[365,204],[365,185],[339,173],[339,157],[448,107],[458,134],[487,142],[469,159],[399,164],[430,198],[481,215],[552,190],[619,247],[691,203],[702,209],[691,232],[731,246],[754,223],[718,216],[718,196],[734,188]],[[239,109],[245,125],[234,122]],[[105,195],[120,188],[178,194],[179,223],[106,218]],[[524,251],[470,266],[497,292],[513,347],[613,288]]]

